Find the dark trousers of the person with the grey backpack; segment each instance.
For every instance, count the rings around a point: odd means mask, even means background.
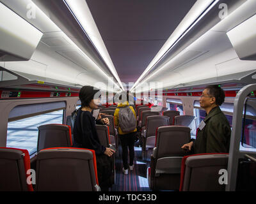
[[[134,159],[134,136],[135,133],[127,133],[125,135],[119,135],[122,145],[122,159],[124,169],[127,170],[128,166],[128,149],[129,149],[129,165],[132,166]]]

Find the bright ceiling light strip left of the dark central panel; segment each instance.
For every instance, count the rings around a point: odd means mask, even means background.
[[[78,24],[81,26],[86,36],[88,36],[95,49],[99,52],[104,62],[106,62],[111,73],[116,78],[118,84],[120,84],[120,87],[122,87],[122,90],[124,91],[122,82],[116,73],[115,66],[111,61],[108,50],[104,45],[104,41],[100,36],[99,30],[95,24],[95,21],[93,20],[92,13],[90,12],[86,1],[63,0],[63,2],[66,4],[72,15],[76,18]]]

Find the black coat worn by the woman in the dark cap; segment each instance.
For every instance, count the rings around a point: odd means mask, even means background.
[[[83,131],[81,127],[81,113],[83,112]],[[95,150],[96,155],[104,154],[106,147],[100,144],[96,126],[102,124],[100,120],[95,120],[91,112],[82,111],[79,108],[74,123],[74,144],[73,147]]]

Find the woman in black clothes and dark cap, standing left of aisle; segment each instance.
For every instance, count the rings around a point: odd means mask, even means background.
[[[74,124],[73,147],[95,150],[99,186],[102,190],[107,190],[111,186],[110,177],[112,171],[112,160],[109,157],[115,151],[101,145],[97,135],[95,124],[109,125],[108,118],[101,119],[99,115],[98,119],[95,119],[92,115],[92,110],[98,108],[97,103],[99,103],[99,99],[93,99],[98,92],[99,89],[91,86],[84,86],[79,92],[81,108],[77,112]]]

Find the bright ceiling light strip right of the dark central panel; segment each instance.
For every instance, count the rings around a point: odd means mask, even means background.
[[[196,1],[195,5],[191,10],[194,9],[194,11],[191,12],[191,15],[186,15],[186,17],[182,20],[182,22],[179,24],[177,29],[173,32],[173,34],[168,38],[166,43],[164,43],[161,50],[159,50],[156,57],[153,59],[152,62],[148,65],[147,69],[142,73],[140,78],[135,82],[135,84],[132,86],[131,91],[133,91],[136,87],[136,85],[139,84],[140,80],[147,75],[147,73],[154,68],[154,66],[157,65],[163,57],[172,50],[172,48],[179,43],[179,41],[219,2],[220,0],[215,1]],[[152,76],[151,76],[152,77]],[[145,82],[145,80],[144,80]]]

